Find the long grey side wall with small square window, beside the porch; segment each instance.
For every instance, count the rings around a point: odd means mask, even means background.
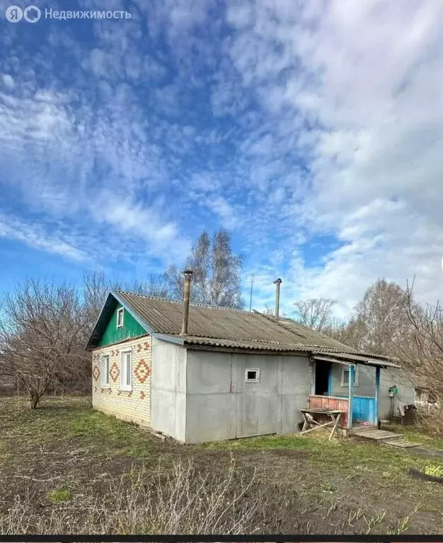
[[[308,358],[188,351],[186,368],[186,443],[298,431]],[[260,381],[246,383],[246,369]]]

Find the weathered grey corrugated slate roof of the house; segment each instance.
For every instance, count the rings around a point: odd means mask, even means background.
[[[182,302],[123,291],[114,291],[108,296],[88,346],[95,344],[94,334],[95,337],[100,335],[100,329],[103,329],[117,301],[130,310],[146,332],[183,345],[207,346],[212,349],[327,353],[337,358],[349,358],[350,361],[352,356],[347,354],[354,354],[362,356],[365,360],[381,359],[386,365],[394,366],[387,362],[389,358],[386,356],[357,352],[340,341],[300,325],[292,319],[277,319],[258,311],[248,313],[191,303],[188,335],[182,337],[180,336]]]

